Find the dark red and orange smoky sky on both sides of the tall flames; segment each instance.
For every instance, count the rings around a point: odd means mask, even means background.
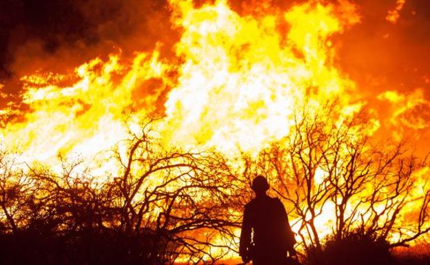
[[[300,1],[271,2],[287,8]],[[428,93],[430,1],[407,0],[396,23],[385,19],[396,0],[353,2],[362,20],[335,37],[338,67],[369,94],[412,87]],[[232,5],[245,3],[249,6],[249,1]],[[23,74],[62,72],[114,49],[126,54],[164,43],[171,52],[178,34],[164,0],[2,0],[0,83],[6,84],[3,92],[14,94]]]

